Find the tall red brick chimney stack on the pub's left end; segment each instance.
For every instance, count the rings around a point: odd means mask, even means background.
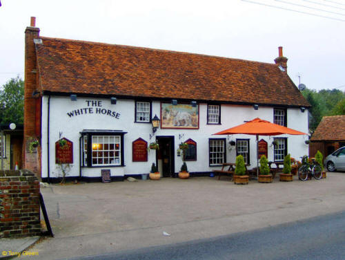
[[[25,82],[24,82],[24,138],[23,138],[23,168],[30,169],[37,176],[41,173],[41,147],[37,152],[30,151],[31,138],[41,140],[41,97],[33,95],[39,89],[39,75],[34,39],[39,38],[39,28],[36,18],[31,17],[30,26],[25,30]],[[39,120],[39,121],[38,121]],[[39,127],[37,127],[39,126]],[[38,131],[39,128],[39,131]]]

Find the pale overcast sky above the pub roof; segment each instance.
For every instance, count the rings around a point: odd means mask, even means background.
[[[0,1],[1,86],[24,77],[24,31],[34,16],[46,37],[268,63],[283,46],[297,86],[300,75],[309,89],[345,91],[344,0]]]

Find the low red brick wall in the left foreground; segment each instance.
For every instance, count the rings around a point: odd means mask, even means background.
[[[39,180],[28,170],[0,171],[0,237],[39,234]]]

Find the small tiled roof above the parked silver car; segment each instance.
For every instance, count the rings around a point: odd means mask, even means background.
[[[311,141],[344,141],[345,115],[324,116],[311,137]]]

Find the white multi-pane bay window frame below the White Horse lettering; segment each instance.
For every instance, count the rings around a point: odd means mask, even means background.
[[[91,147],[92,167],[121,165],[121,136],[92,135]],[[95,163],[95,160],[97,160],[97,163]],[[99,163],[100,160],[101,163]]]

